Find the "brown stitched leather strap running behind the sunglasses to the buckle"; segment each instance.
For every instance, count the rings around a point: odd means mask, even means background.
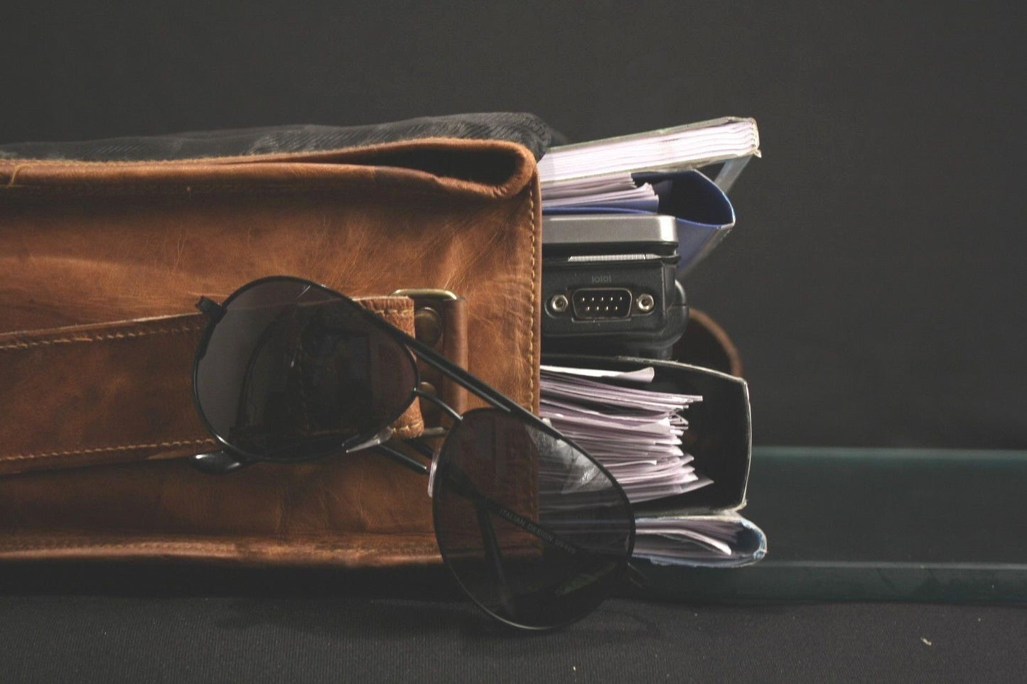
[[[412,299],[357,301],[415,334]],[[438,339],[462,346],[463,357],[453,360],[466,365],[466,341],[457,342],[463,310],[445,313]],[[196,313],[0,335],[0,474],[217,449],[192,400],[193,356],[206,321]],[[418,403],[392,427],[401,439],[419,435]]]

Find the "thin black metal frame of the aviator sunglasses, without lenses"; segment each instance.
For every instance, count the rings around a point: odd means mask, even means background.
[[[199,373],[200,360],[202,359],[206,351],[206,347],[210,343],[211,337],[215,329],[217,328],[218,324],[221,321],[221,318],[224,312],[226,311],[226,307],[235,298],[237,298],[239,295],[253,288],[275,281],[288,281],[306,286],[309,288],[316,289],[321,293],[337,298],[341,301],[348,302],[349,304],[352,305],[354,310],[358,311],[359,314],[365,317],[366,321],[369,325],[373,326],[378,331],[387,334],[389,337],[392,338],[393,341],[396,342],[396,344],[400,347],[402,347],[405,350],[406,357],[409,358],[411,367],[414,372],[414,386],[411,388],[410,396],[403,403],[402,408],[398,409],[398,411],[395,413],[394,416],[388,419],[385,425],[377,433],[373,435],[367,435],[367,434],[355,435],[354,438],[347,440],[342,445],[339,445],[339,447],[335,449],[326,449],[316,452],[311,452],[310,454],[306,454],[299,458],[296,457],[272,458],[266,456],[256,456],[253,454],[245,454],[241,452],[238,448],[231,445],[225,438],[223,438],[220,433],[218,433],[218,431],[215,430],[214,427],[211,425],[210,421],[207,420],[206,416],[203,413],[196,381],[197,374]],[[257,280],[253,280],[251,282],[243,284],[238,290],[229,295],[225,299],[225,301],[222,302],[221,304],[218,304],[217,302],[206,297],[201,297],[196,306],[210,318],[210,322],[207,324],[207,327],[205,328],[203,335],[200,338],[200,343],[196,351],[196,357],[193,363],[193,378],[192,378],[193,401],[196,406],[196,411],[199,414],[200,419],[203,421],[204,426],[207,428],[207,431],[211,432],[211,434],[214,435],[214,438],[224,447],[224,449],[217,452],[212,452],[207,454],[198,454],[194,456],[192,463],[199,470],[208,473],[222,474],[235,470],[238,467],[246,465],[252,462],[258,462],[258,461],[301,462],[316,458],[322,458],[331,455],[352,453],[355,451],[363,451],[366,449],[374,449],[375,451],[381,453],[382,455],[391,458],[392,460],[414,470],[415,472],[418,472],[419,474],[428,476],[428,496],[434,499],[435,488],[438,487],[438,479],[435,476],[439,469],[440,460],[443,454],[446,452],[447,444],[449,440],[452,438],[453,433],[455,432],[455,428],[462,422],[463,416],[481,411],[500,411],[502,413],[505,413],[511,417],[515,417],[527,423],[533,429],[544,432],[554,439],[560,440],[570,445],[572,448],[574,448],[581,454],[584,454],[592,462],[592,464],[595,465],[603,473],[603,476],[610,482],[616,494],[621,498],[624,507],[629,511],[632,510],[632,506],[627,499],[627,495],[624,493],[623,489],[617,483],[616,479],[610,473],[610,471],[605,466],[603,466],[602,463],[600,463],[593,456],[588,455],[588,453],[584,449],[574,444],[572,440],[568,439],[567,436],[559,432],[551,425],[549,425],[548,423],[546,423],[545,421],[543,421],[542,419],[540,419],[539,417],[537,417],[524,407],[522,407],[517,402],[510,400],[509,397],[502,394],[498,390],[490,387],[488,384],[478,379],[466,370],[451,363],[445,356],[439,354],[436,351],[431,349],[423,342],[411,337],[410,335],[407,335],[402,330],[390,325],[388,321],[381,318],[370,309],[360,306],[354,300],[350,299],[349,297],[346,297],[345,295],[342,295],[341,293],[332,290],[331,288],[328,288],[326,286],[319,284],[317,282],[302,277],[291,276],[291,275],[272,275],[259,278]],[[417,368],[417,359],[420,359],[421,362],[427,364],[428,366],[431,366],[440,373],[444,374],[447,378],[453,380],[466,390],[476,394],[480,398],[486,401],[491,405],[492,408],[471,409],[470,411],[464,412],[464,414],[460,414],[457,413],[455,410],[453,410],[451,407],[449,407],[445,402],[443,402],[438,396],[421,391],[419,389],[420,373]],[[401,415],[403,415],[403,413],[414,402],[415,398],[422,398],[424,401],[434,404],[453,420],[453,427],[447,431],[445,440],[438,448],[429,447],[422,441],[416,439],[405,442],[405,444],[409,445],[416,452],[418,452],[422,456],[429,458],[430,465],[427,465],[417,460],[416,458],[413,458],[412,456],[393,447],[391,444],[385,444],[391,438],[391,429],[388,427],[388,425],[390,425],[395,419],[397,419]],[[480,492],[474,493],[473,491],[471,491],[469,494],[467,494],[467,496],[478,499],[474,502],[476,505],[481,504],[481,506],[483,506],[479,508],[480,510],[479,518],[482,526],[483,539],[485,540],[484,544],[486,547],[485,550],[486,554],[489,556],[496,553],[494,549],[490,550],[490,547],[495,543],[494,540],[496,539],[496,535],[494,531],[492,531],[491,529],[491,524],[488,521],[488,517],[487,516],[483,517],[481,515],[481,511],[483,510],[501,516],[503,519],[530,532],[531,534],[538,537],[542,541],[545,541],[546,543],[557,545],[558,547],[561,547],[565,550],[570,550],[571,553],[583,552],[585,554],[593,555],[593,552],[575,547],[573,544],[561,539],[558,534],[555,534],[554,532],[547,530],[544,526],[540,525],[536,521],[526,519],[518,515],[517,512],[509,510],[502,504],[488,498],[487,496],[481,494]],[[433,517],[436,519],[438,522],[436,506],[433,505],[432,510],[433,510]],[[618,575],[623,574],[623,572],[631,567],[630,559],[632,557],[632,552],[634,550],[634,545],[635,545],[634,515],[629,516],[627,522],[629,522],[627,547],[622,557],[619,558],[620,567],[617,569]],[[490,540],[493,542],[493,544],[489,543]],[[459,575],[456,573],[456,571],[450,564],[449,560],[446,558],[445,553],[443,554],[443,559],[446,562],[452,574],[454,575],[454,577],[457,579],[457,582],[460,584],[461,588],[468,596],[468,598],[470,598],[471,601],[473,601],[486,613],[488,613],[493,618],[499,620],[500,622],[522,630],[548,631],[565,626],[566,624],[574,622],[584,616],[584,615],[576,615],[568,619],[566,622],[553,625],[544,625],[544,626],[523,624],[508,620],[502,617],[501,615],[496,614],[492,609],[482,604],[478,600],[478,598],[466,586],[463,585],[463,582],[460,580]]]

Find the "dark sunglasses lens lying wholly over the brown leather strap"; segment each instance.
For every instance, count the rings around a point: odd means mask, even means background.
[[[398,417],[415,383],[410,352],[357,304],[291,279],[239,291],[195,369],[214,431],[243,454],[275,460],[370,439]]]

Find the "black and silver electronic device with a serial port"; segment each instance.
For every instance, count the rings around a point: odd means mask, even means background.
[[[688,321],[677,263],[674,217],[546,216],[543,349],[670,358]]]

